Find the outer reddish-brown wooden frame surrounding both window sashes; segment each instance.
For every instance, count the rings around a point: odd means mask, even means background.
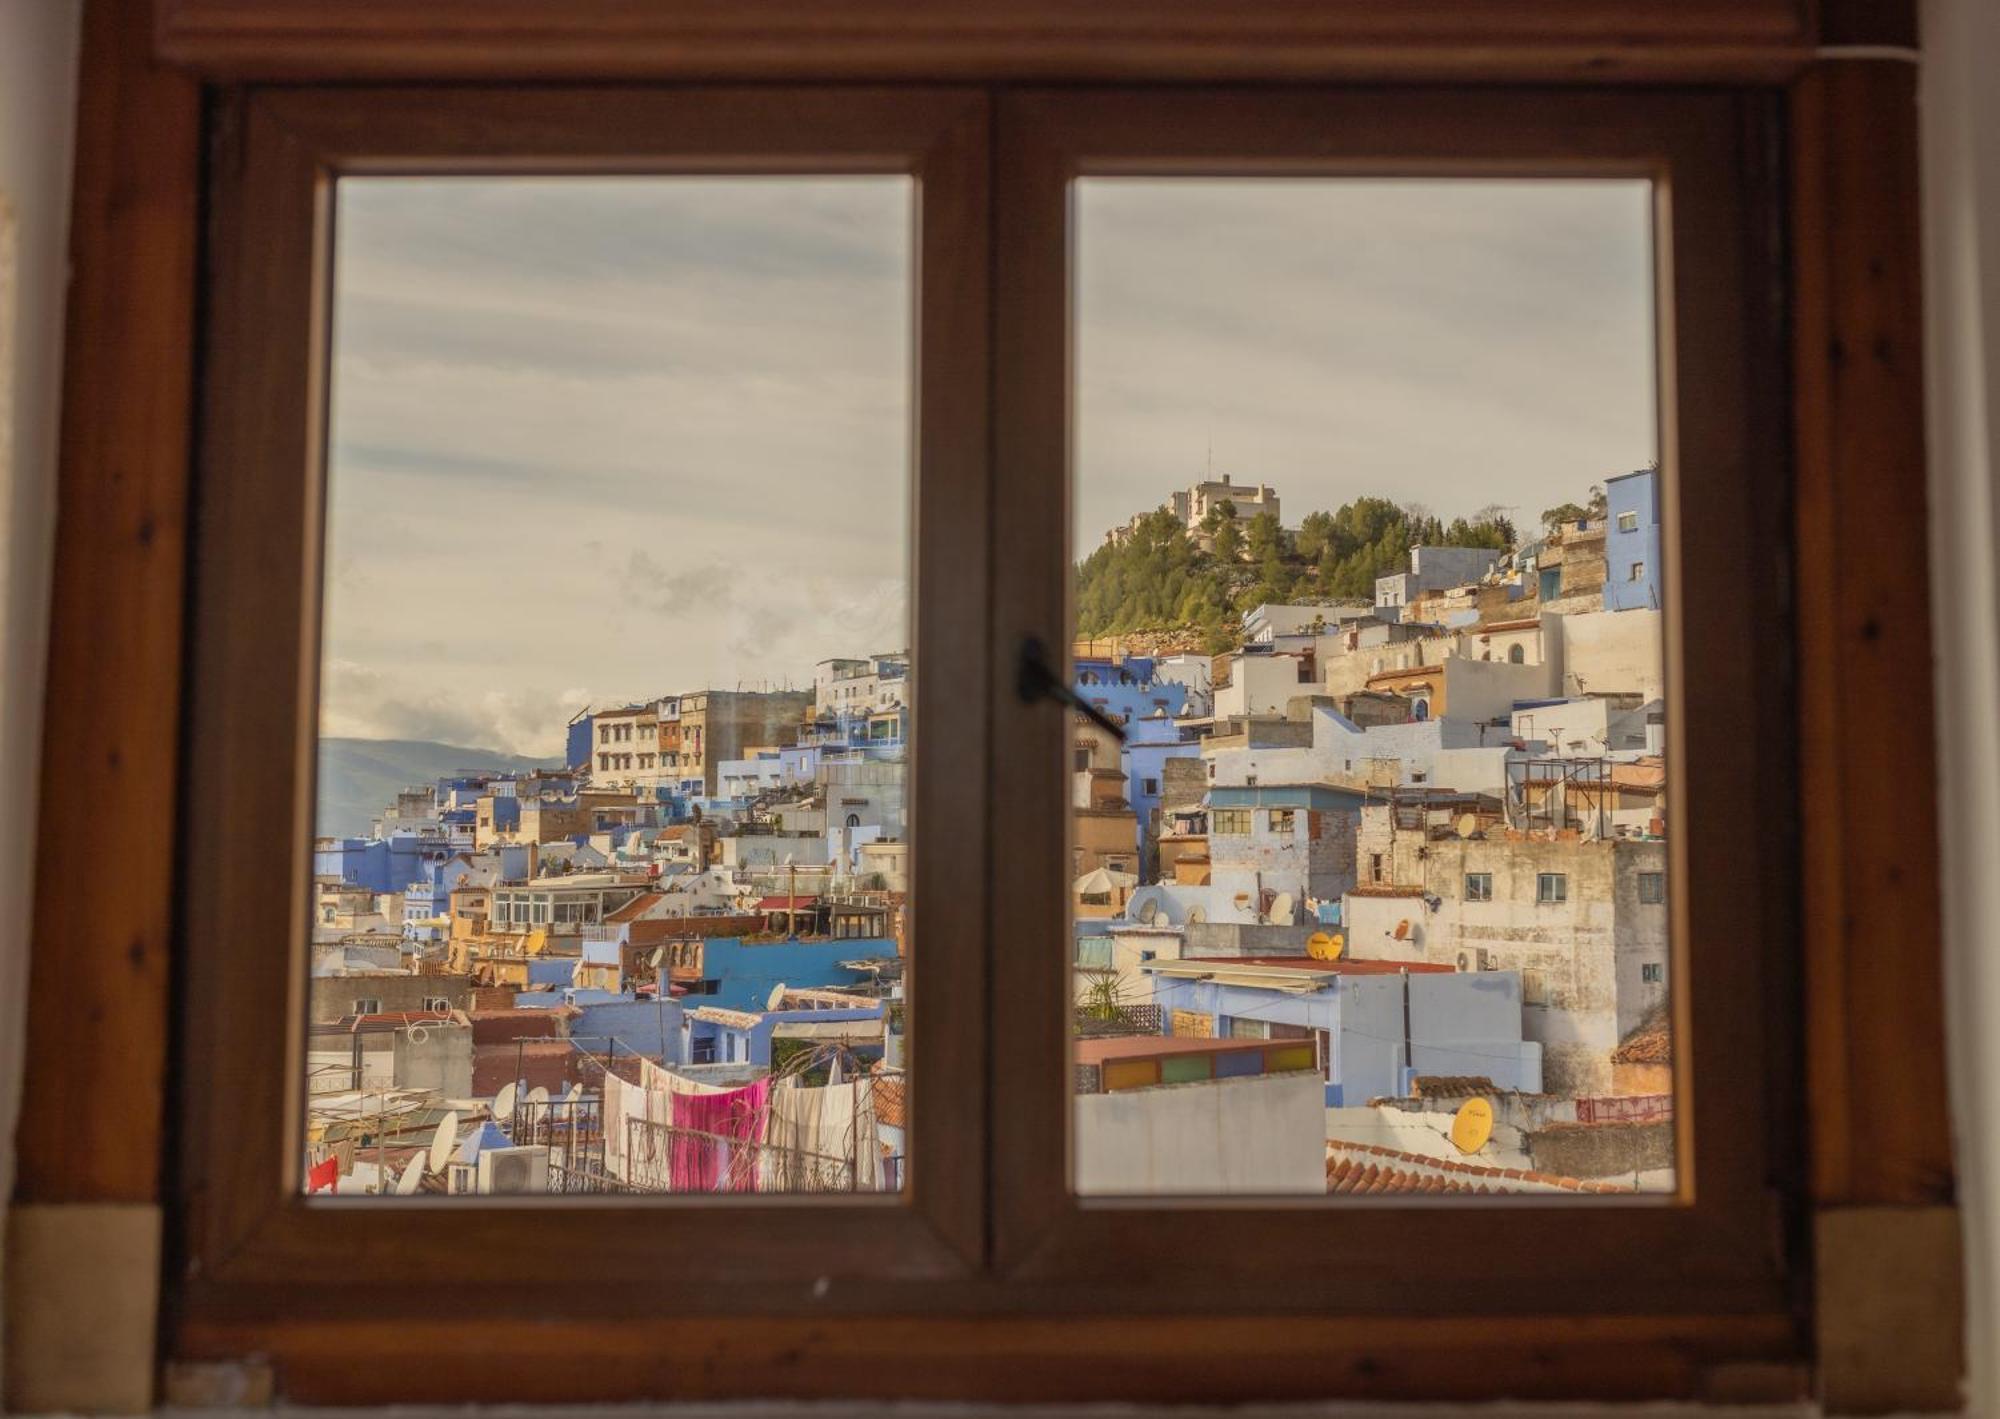
[[[1116,16],[1060,0],[948,0],[922,14],[900,0],[838,10],[500,0],[450,12],[424,0],[86,0],[10,1313],[34,1317],[42,1299],[74,1293],[60,1265],[34,1263],[76,1255],[70,1241],[102,1259],[86,1301],[108,1285],[146,1289],[164,1231],[164,1379],[120,1369],[152,1349],[150,1317],[106,1315],[96,1353],[108,1403],[148,1387],[182,1403],[238,1403],[270,1383],[308,1403],[1818,1393],[1832,1413],[1952,1407],[1962,1355],[1936,825],[1912,791],[1936,773],[1928,592],[1908,576],[1928,544],[1916,68],[1904,62],[1914,44],[1908,0],[1248,0],[1226,12],[1142,0]],[[1756,398],[1792,412],[1774,466],[1792,488],[1796,566],[1782,582],[1796,640],[1766,646],[1764,670],[1782,692],[1796,656],[1790,713],[1810,805],[1800,841],[1786,845],[1802,883],[1786,905],[1800,919],[1804,991],[1774,1001],[1774,1021],[1800,1033],[1812,1097],[1792,1119],[1808,1177],[1770,1227],[1798,1261],[1786,1337],[1760,1323],[1718,1349],[1676,1331],[1674,1317],[1590,1315],[1568,1299],[1420,1321],[1042,1319],[976,1301],[960,1313],[872,1313],[842,1277],[830,1289],[838,1315],[800,1303],[754,1323],[720,1313],[606,1323],[546,1309],[336,1319],[310,1297],[298,1303],[300,1287],[266,1289],[268,1311],[188,1305],[200,1257],[166,1185],[186,1139],[176,1143],[178,1109],[164,1105],[170,981],[188,955],[176,877],[186,851],[164,825],[182,795],[188,721],[204,140],[228,158],[242,84],[612,78],[1388,82],[1382,92],[1410,80],[1490,92],[1562,82],[1612,104],[1686,82],[1782,108],[1782,128],[1746,160],[1780,168],[1788,184],[1772,240],[1784,254],[1774,286],[1790,362],[1784,386]],[[1890,737],[1868,729],[1880,684],[1904,696],[1904,731]],[[996,704],[996,723],[1006,713]],[[152,831],[128,835],[120,869],[106,873],[96,835],[48,811],[66,801]],[[118,1047],[76,1051],[78,1017]],[[1886,1297],[1922,1307],[1922,1319],[1896,1311],[1884,1325]],[[1452,1299],[1438,1297],[1446,1311]],[[8,1327],[10,1395],[80,1403],[76,1375],[38,1375],[68,1365],[70,1351],[50,1359],[20,1339],[28,1331]]]

